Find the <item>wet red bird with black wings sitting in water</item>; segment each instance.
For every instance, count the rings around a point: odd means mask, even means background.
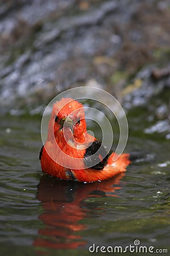
[[[129,154],[113,162],[101,142],[86,132],[83,105],[62,98],[53,105],[48,137],[40,151],[41,168],[59,179],[101,181],[126,171]]]

